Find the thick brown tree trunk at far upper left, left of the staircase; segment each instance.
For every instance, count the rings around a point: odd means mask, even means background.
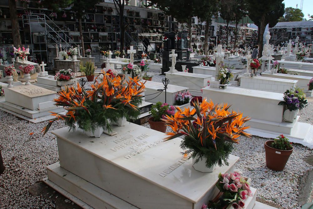
[[[18,12],[16,10],[16,1],[9,0],[10,19],[12,24],[12,39],[15,47],[22,45],[21,35],[18,25]]]

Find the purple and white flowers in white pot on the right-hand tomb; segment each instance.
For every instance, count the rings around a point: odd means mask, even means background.
[[[278,105],[285,106],[284,119],[286,122],[294,122],[298,115],[299,110],[307,106],[308,101],[305,98],[305,93],[299,87],[291,88],[285,91],[284,101]]]

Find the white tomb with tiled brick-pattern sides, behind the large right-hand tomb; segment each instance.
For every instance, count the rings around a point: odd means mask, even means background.
[[[298,83],[295,80],[265,77],[263,75],[265,75],[265,73],[262,73],[262,76],[242,76],[240,78],[240,87],[259,91],[285,93],[287,89],[295,87]]]

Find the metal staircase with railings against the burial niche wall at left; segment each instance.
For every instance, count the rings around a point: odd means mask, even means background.
[[[51,46],[55,48],[55,45],[61,45],[63,49],[78,47],[78,45],[74,43],[68,34],[60,29],[59,26],[56,25],[54,21],[45,14],[24,14],[22,18],[22,24],[24,30],[29,30],[28,32],[30,33],[30,43],[38,44],[39,46],[39,49],[35,49],[34,45],[29,46],[32,56],[35,57],[35,54],[40,54],[40,58],[43,60],[43,57],[45,57],[44,54],[46,54],[48,59],[48,68],[52,67],[52,63],[49,61],[53,60],[54,58],[49,57],[48,48]],[[38,38],[34,34],[38,34]],[[44,40],[40,39],[39,36],[44,36]],[[81,52],[81,49],[78,49]]]

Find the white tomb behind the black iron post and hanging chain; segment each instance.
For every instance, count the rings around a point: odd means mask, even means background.
[[[158,91],[158,89],[164,89],[164,85],[162,83],[154,82],[154,81],[147,81],[145,86],[146,86],[145,100],[147,102],[152,102],[152,103],[165,102],[165,91],[163,91],[162,93]],[[176,93],[179,91],[186,91],[186,90],[188,90],[187,87],[168,84],[167,90],[166,90],[166,103],[169,105],[174,105]],[[157,96],[159,93],[160,95]]]

